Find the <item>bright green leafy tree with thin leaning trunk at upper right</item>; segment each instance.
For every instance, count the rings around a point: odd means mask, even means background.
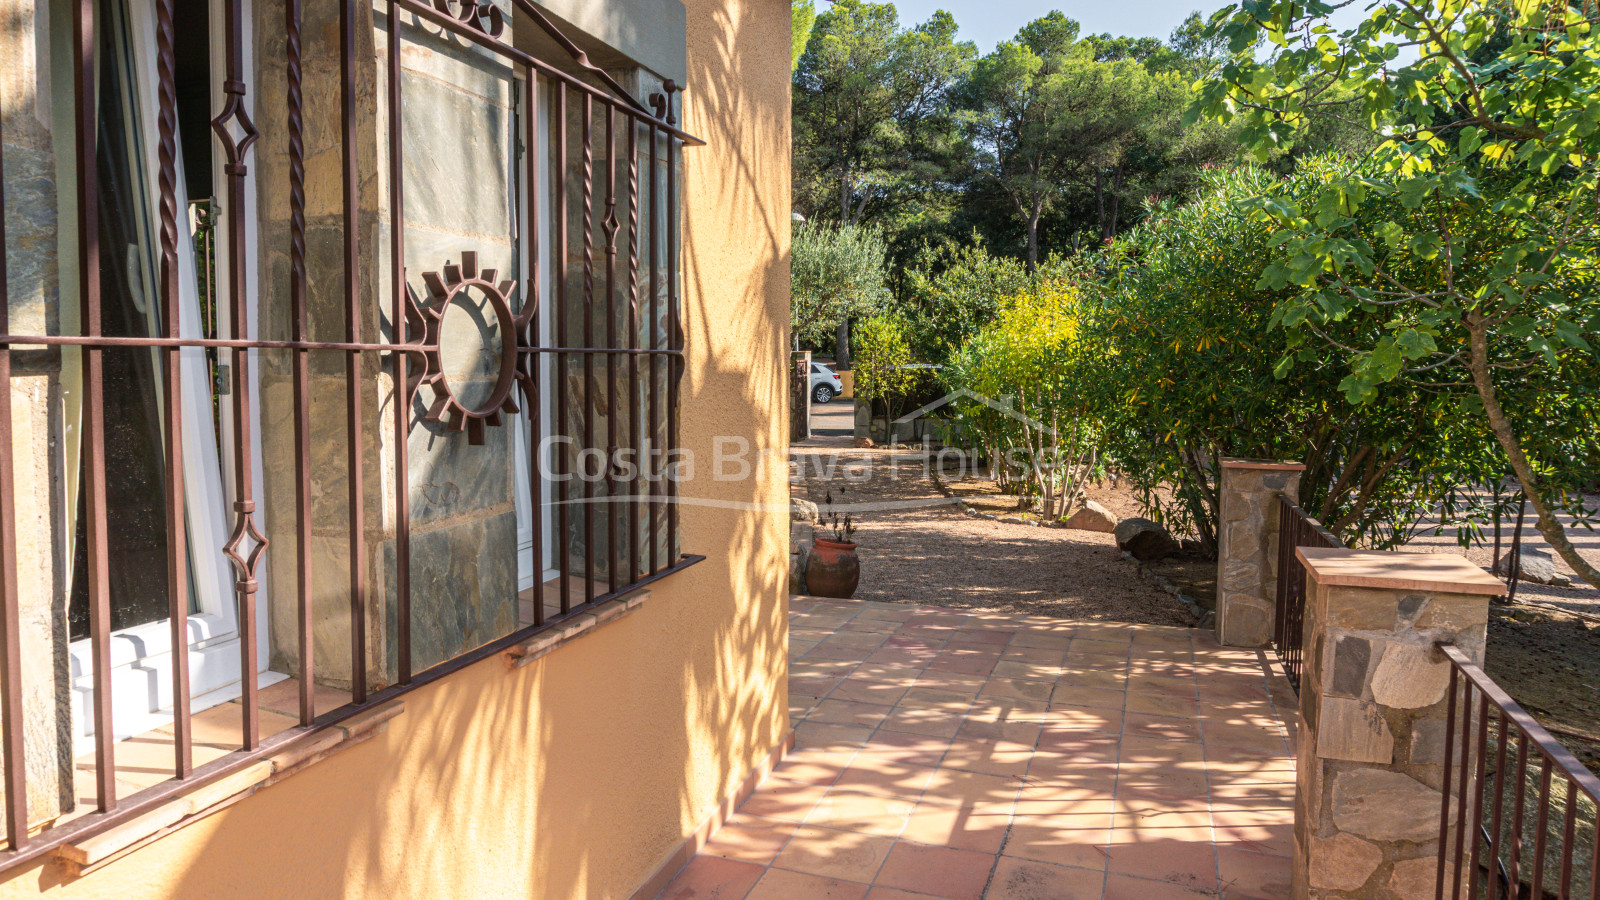
[[[1493,434],[1538,528],[1590,585],[1566,538],[1600,471],[1590,336],[1600,331],[1600,45],[1592,11],[1506,0],[1386,0],[1349,29],[1310,0],[1213,19],[1234,58],[1194,114],[1237,122],[1258,154],[1333,112],[1381,138],[1371,168],[1314,195],[1264,189],[1261,285],[1282,295],[1290,373],[1338,359],[1371,404],[1424,389]],[[1250,51],[1258,40],[1266,58]],[[1334,330],[1357,328],[1354,338]]]

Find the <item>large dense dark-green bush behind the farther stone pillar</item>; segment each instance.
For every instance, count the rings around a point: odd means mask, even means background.
[[[1427,384],[1390,384],[1352,404],[1338,360],[1278,368],[1272,319],[1288,291],[1262,283],[1278,259],[1274,229],[1242,203],[1266,189],[1312,197],[1352,171],[1328,157],[1286,179],[1214,170],[1189,202],[1162,203],[1102,259],[1107,299],[1091,331],[1115,392],[1104,405],[1107,453],[1158,517],[1210,549],[1224,456],[1304,461],[1301,506],[1346,543],[1376,548],[1406,541],[1491,471],[1486,434]],[[1371,336],[1363,322],[1330,328],[1341,341]]]

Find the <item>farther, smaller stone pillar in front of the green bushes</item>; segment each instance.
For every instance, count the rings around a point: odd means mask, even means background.
[[[1227,647],[1272,642],[1278,585],[1277,495],[1299,493],[1306,466],[1222,460],[1222,520],[1216,533],[1216,637]]]

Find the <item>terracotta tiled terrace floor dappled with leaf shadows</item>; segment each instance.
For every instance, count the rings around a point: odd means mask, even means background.
[[[1288,895],[1293,693],[1210,631],[790,602],[795,749],[666,900]]]

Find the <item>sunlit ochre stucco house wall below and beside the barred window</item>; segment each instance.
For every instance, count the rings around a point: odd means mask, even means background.
[[[690,0],[683,445],[742,436],[746,480],[698,466],[683,546],[709,559],[522,669],[406,695],[389,730],[70,882],[0,898],[619,897],[782,740],[789,8]],[[507,560],[510,564],[510,560]]]

